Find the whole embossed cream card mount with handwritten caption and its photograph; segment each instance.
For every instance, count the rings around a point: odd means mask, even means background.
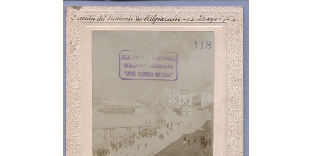
[[[244,155],[243,7],[66,7],[66,155]]]

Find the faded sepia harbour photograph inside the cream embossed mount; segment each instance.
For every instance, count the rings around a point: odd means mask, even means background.
[[[214,32],[92,31],[93,156],[212,156]]]

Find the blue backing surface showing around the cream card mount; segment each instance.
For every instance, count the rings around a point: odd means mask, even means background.
[[[66,6],[242,6],[244,8],[244,156],[249,156],[249,1],[194,0],[194,1],[63,1],[63,155],[66,155],[66,52],[65,10]]]

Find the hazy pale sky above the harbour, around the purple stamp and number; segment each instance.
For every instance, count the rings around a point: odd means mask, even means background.
[[[197,49],[195,48],[197,41]],[[203,49],[201,49],[203,41]],[[212,47],[206,48],[207,41]],[[173,51],[178,54],[180,89],[203,92],[214,88],[214,33],[191,31],[93,31],[92,94],[94,100],[106,95],[158,94],[163,86],[175,81],[121,80],[119,52]]]

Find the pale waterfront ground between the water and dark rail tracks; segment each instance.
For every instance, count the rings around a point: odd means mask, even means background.
[[[162,114],[164,119],[166,119],[168,122],[171,121],[179,121],[180,120],[180,125],[179,128],[176,130],[171,130],[163,127],[162,129],[158,129],[157,136],[153,136],[152,138],[140,138],[140,139],[135,139],[135,144],[132,145],[131,147],[127,148],[120,148],[118,152],[113,151],[112,148],[110,147],[110,141],[107,140],[101,143],[101,145],[98,146],[106,146],[109,147],[110,149],[110,156],[120,156],[120,155],[145,155],[145,156],[153,156],[155,154],[158,154],[160,151],[180,139],[183,135],[185,134],[192,134],[196,130],[202,129],[202,126],[206,123],[207,120],[213,120],[210,118],[211,113],[209,113],[206,110],[195,110],[194,109],[194,116],[192,117],[182,117],[179,115],[176,115],[170,109],[168,110],[167,114]],[[193,122],[196,121],[196,122]],[[167,122],[167,123],[168,123]],[[189,127],[189,123],[191,124],[191,127]],[[213,126],[213,125],[212,125]],[[138,129],[139,130],[139,129]],[[135,131],[134,131],[135,132]],[[169,134],[167,134],[169,133]],[[213,132],[212,132],[213,133]],[[163,140],[158,140],[158,135],[163,134],[164,139]],[[210,134],[211,135],[211,134]],[[213,136],[213,134],[212,134]],[[206,136],[205,136],[206,137]],[[122,138],[122,137],[121,137]],[[119,141],[121,138],[116,138],[115,141]],[[147,143],[147,148],[145,149],[144,145]],[[138,144],[140,144],[139,149],[137,149]],[[97,145],[95,145],[95,149],[98,148]]]

